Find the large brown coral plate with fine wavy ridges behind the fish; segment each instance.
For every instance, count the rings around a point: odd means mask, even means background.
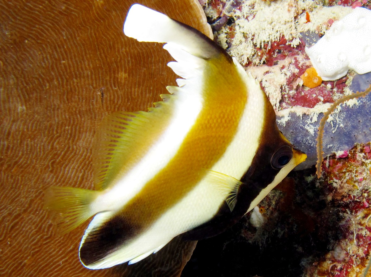
[[[140,2],[211,36],[194,0]],[[0,1],[1,276],[120,274],[82,266],[86,224],[56,234],[43,191],[93,188],[91,145],[101,119],[146,111],[175,84],[161,45],[124,36],[132,3]]]

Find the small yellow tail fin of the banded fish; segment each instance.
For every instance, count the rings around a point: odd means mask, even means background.
[[[90,203],[98,193],[82,188],[50,187],[45,191],[44,208],[52,212],[58,231],[64,234],[94,215]]]

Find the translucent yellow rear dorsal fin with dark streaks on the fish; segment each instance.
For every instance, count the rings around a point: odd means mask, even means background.
[[[132,168],[161,135],[173,113],[172,95],[149,112],[115,112],[101,122],[93,145],[95,188],[106,189]]]

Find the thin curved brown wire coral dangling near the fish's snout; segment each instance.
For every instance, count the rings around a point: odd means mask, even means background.
[[[357,92],[357,93],[340,98],[339,100],[334,102],[334,104],[331,105],[331,107],[325,112],[324,117],[319,122],[318,136],[317,136],[317,158],[318,159],[317,159],[317,165],[316,165],[316,169],[317,169],[316,174],[318,178],[321,177],[322,162],[324,159],[323,157],[324,152],[322,151],[322,137],[323,137],[323,132],[324,132],[325,123],[327,119],[329,118],[331,113],[336,109],[336,107],[339,106],[340,104],[344,103],[345,101],[354,99],[354,98],[364,97],[370,91],[371,91],[371,86],[369,86],[368,89],[366,89],[365,91]]]

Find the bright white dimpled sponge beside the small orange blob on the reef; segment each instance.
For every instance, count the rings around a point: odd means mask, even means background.
[[[357,7],[332,24],[312,47],[305,48],[322,80],[337,80],[348,69],[359,74],[371,71],[371,10]]]

